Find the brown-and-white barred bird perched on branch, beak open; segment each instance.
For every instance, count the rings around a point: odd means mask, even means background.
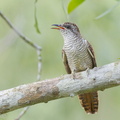
[[[64,39],[62,49],[63,63],[68,74],[75,74],[97,66],[91,44],[81,36],[76,24],[65,22],[53,24],[52,29],[61,32]],[[90,92],[78,95],[86,113],[94,114],[98,111],[98,93]]]

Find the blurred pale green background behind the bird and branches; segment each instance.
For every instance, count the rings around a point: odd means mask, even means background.
[[[42,80],[66,74],[62,63],[63,38],[51,25],[71,21],[93,46],[97,64],[102,66],[120,58],[120,6],[108,15],[95,17],[116,4],[116,0],[86,0],[67,19],[63,9],[69,0],[39,0],[37,17],[41,34],[34,28],[34,0],[0,0],[0,10],[14,26],[42,47]],[[0,18],[0,90],[36,81],[36,51],[26,44]],[[118,120],[120,87],[99,92],[99,111],[88,115],[78,97],[63,98],[31,106],[21,120]],[[14,120],[22,109],[1,115],[0,120]]]

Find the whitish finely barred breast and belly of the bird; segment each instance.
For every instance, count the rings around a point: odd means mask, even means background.
[[[92,68],[91,56],[88,53],[87,45],[84,39],[68,41],[64,44],[63,48],[66,52],[68,64],[71,71],[79,72],[84,71],[87,68]]]

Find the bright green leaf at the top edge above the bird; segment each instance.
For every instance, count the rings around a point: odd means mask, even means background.
[[[68,4],[68,14],[70,14],[75,8],[77,8],[85,0],[71,0]]]

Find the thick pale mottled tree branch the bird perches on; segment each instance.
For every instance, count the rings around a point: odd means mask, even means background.
[[[33,104],[120,85],[120,62],[0,91],[0,114]]]

